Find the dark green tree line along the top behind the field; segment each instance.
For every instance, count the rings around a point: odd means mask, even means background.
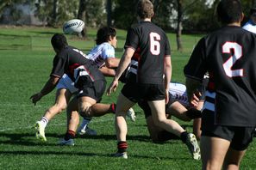
[[[215,17],[220,0],[151,0],[155,15],[153,22],[176,33],[178,50],[182,50],[182,33],[208,33],[219,27]],[[128,29],[136,22],[138,0],[1,0],[0,15],[6,8],[15,10],[17,3],[29,4],[34,15],[49,27],[59,27],[65,21],[78,18],[86,27],[112,27]],[[256,0],[242,0],[248,19],[249,10]],[[11,13],[16,14],[16,13]],[[16,16],[18,18],[18,16]],[[83,36],[86,36],[86,27]]]

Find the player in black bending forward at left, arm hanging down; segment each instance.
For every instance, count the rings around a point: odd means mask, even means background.
[[[91,106],[101,100],[103,96],[106,87],[103,73],[98,70],[97,64],[92,60],[84,58],[83,52],[75,47],[68,46],[63,34],[55,33],[51,42],[56,52],[56,56],[53,58],[53,70],[41,92],[32,95],[31,99],[34,104],[41,100],[41,97],[55,88],[61,76],[66,74],[72,79],[72,82],[75,82],[75,87],[78,88],[79,114],[86,117]],[[44,132],[42,132],[44,128],[36,128],[39,131],[38,136],[40,134],[44,135]],[[75,131],[69,131],[69,134],[74,136]]]

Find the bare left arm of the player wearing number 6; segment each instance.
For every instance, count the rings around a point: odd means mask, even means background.
[[[109,88],[107,89],[107,95],[110,95],[112,92],[116,91],[116,88],[118,87],[118,80],[120,76],[122,76],[122,73],[126,68],[128,67],[128,64],[131,63],[131,58],[134,55],[134,49],[133,48],[127,48],[122,55],[122,58],[120,60],[120,64],[116,70],[116,76],[113,79],[113,82],[110,84]]]

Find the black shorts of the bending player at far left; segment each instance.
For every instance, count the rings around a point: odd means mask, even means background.
[[[95,99],[97,102],[99,102],[102,100],[102,96],[106,89],[106,84],[107,82],[104,80],[87,83],[83,86],[83,88],[79,89],[78,98],[86,96],[91,97],[92,99]]]

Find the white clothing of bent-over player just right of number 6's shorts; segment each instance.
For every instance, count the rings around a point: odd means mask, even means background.
[[[190,106],[186,86],[184,84],[178,82],[170,82],[169,95],[169,99],[172,103],[174,101],[178,101],[185,107]]]

